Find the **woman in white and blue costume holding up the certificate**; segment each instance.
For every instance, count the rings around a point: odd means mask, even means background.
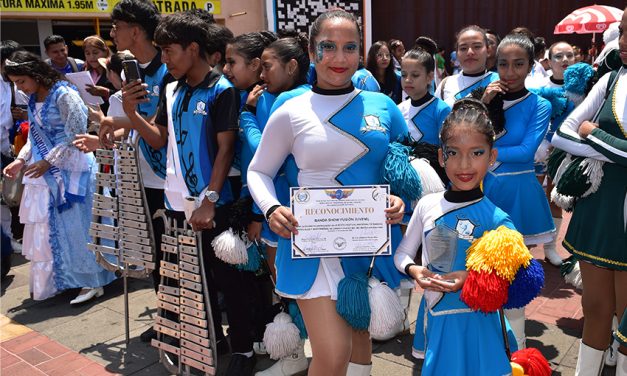
[[[336,300],[340,280],[358,270],[365,273],[372,257],[293,259],[289,238],[298,234],[298,221],[280,206],[272,178],[291,154],[301,187],[383,183],[388,145],[407,134],[407,125],[391,99],[353,87],[360,35],[348,12],[333,10],[316,19],[309,54],[317,82],[312,91],[286,101],[272,114],[248,170],[252,196],[281,236],[276,289],[297,299],[302,311],[313,352],[310,375],[370,374],[368,332],[353,330],[337,313]],[[397,224],[403,217],[402,200],[390,196],[389,202],[387,223]],[[392,227],[393,237],[400,236],[397,227]],[[402,277],[391,256],[376,257],[374,274],[392,288]]]

